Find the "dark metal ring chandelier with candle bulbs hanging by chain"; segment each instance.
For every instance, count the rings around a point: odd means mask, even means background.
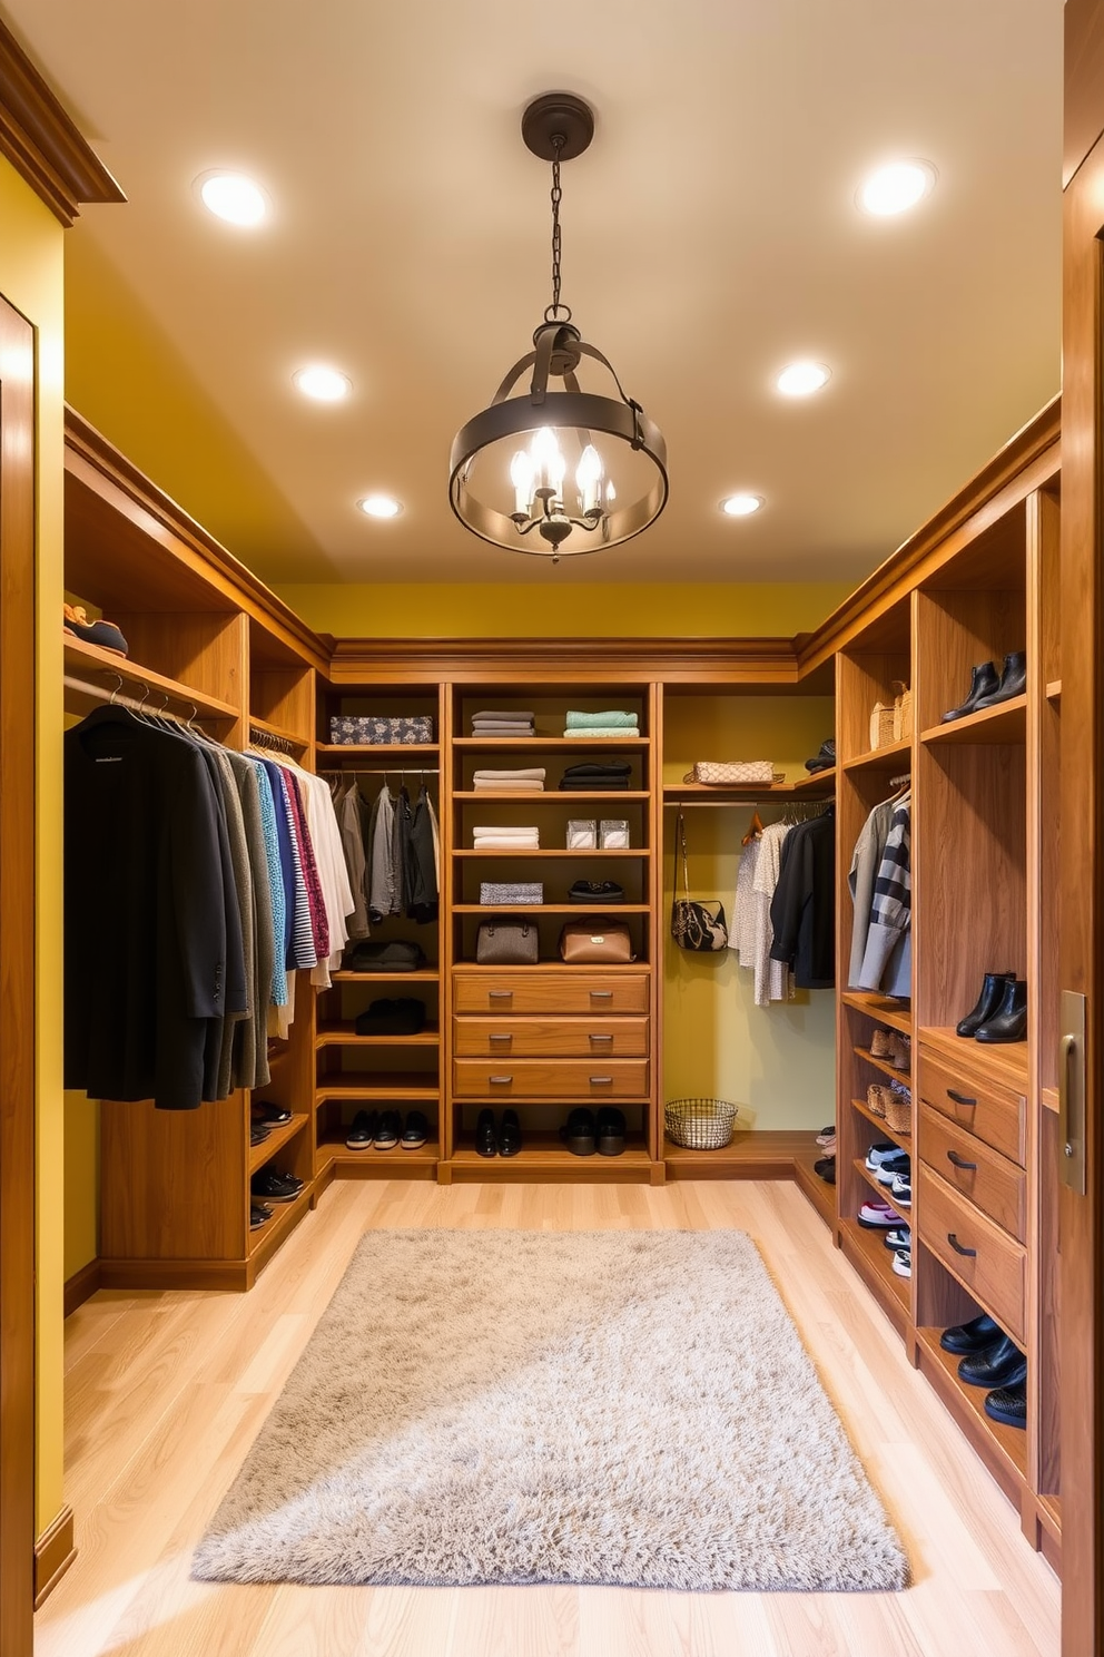
[[[449,462],[452,510],[473,535],[553,563],[631,540],[667,504],[662,432],[559,303],[559,164],[593,136],[591,108],[571,93],[546,93],[521,116],[528,149],[551,162],[551,305],[533,350],[457,432]],[[583,358],[607,370],[604,394],[579,388]],[[526,373],[528,391],[515,394]]]

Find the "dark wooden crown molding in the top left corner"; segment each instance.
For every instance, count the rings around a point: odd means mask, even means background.
[[[126,196],[46,86],[15,35],[0,23],[0,154],[66,229],[83,202]]]

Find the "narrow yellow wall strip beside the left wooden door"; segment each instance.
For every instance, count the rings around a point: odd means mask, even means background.
[[[38,353],[38,1377],[36,1523],[61,1508],[61,504],[65,230],[0,159],[0,293],[36,328]]]

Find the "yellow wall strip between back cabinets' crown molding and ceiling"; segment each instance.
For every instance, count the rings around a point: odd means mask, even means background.
[[[720,638],[809,633],[846,582],[596,587],[285,585],[280,597],[339,638]]]

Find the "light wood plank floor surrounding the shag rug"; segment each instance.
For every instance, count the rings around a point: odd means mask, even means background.
[[[738,1226],[914,1563],[904,1594],[225,1587],[189,1559],[364,1231]],[[248,1296],[96,1294],[68,1321],[79,1554],[36,1657],[1054,1657],[1059,1589],[796,1186],[329,1188]],[[386,1400],[381,1400],[386,1407]]]

